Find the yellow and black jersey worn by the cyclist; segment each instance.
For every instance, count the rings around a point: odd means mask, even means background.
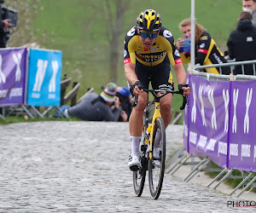
[[[180,55],[174,45],[172,33],[165,27],[160,27],[160,34],[150,48],[144,48],[139,40],[137,27],[134,26],[125,35],[124,63],[134,63],[138,60],[144,66],[157,66],[166,59],[171,65],[182,63]],[[166,61],[166,60],[165,60]]]

